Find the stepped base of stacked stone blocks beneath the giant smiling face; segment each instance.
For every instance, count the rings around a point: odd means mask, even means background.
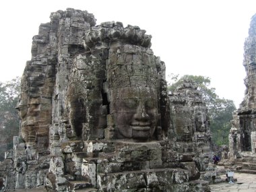
[[[191,185],[188,183],[191,167],[173,168],[177,161],[168,164],[174,158],[164,158],[158,142],[69,141],[61,148],[65,166],[69,167],[66,170],[76,172],[77,179],[90,183],[92,186],[88,184],[87,187],[99,191],[187,191]]]

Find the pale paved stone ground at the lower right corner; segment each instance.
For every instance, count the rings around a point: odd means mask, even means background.
[[[226,174],[222,175],[223,179],[226,179]],[[210,185],[211,191],[221,191],[221,192],[256,192],[256,174],[247,174],[235,172],[234,178],[237,179],[236,182],[230,184],[217,183]]]

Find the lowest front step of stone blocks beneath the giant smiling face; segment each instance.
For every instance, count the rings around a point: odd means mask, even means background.
[[[137,187],[146,189],[147,186],[152,188],[161,186],[162,189],[169,189],[170,186],[187,183],[189,181],[188,174],[188,170],[181,168],[154,168],[100,173],[97,174],[97,179],[100,181],[98,185],[101,191],[116,191],[117,189],[136,191]]]

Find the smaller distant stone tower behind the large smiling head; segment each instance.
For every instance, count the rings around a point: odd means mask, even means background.
[[[210,157],[210,122],[207,106],[197,86],[184,79],[170,95],[172,129],[177,135],[179,152],[193,152],[200,171],[205,171]]]

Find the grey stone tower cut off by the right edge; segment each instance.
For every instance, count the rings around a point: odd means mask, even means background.
[[[229,135],[229,157],[241,172],[256,173],[256,15],[251,18],[249,36],[245,40],[243,65],[245,77],[245,98],[234,113]],[[239,170],[242,169],[242,170]]]

